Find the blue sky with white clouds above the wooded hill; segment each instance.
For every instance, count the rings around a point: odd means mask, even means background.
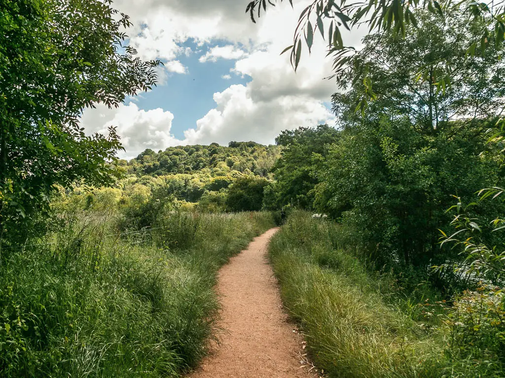
[[[146,148],[230,141],[273,144],[281,131],[335,124],[330,111],[337,90],[332,59],[316,38],[312,54],[295,73],[289,52],[304,1],[270,7],[250,21],[248,0],[116,0],[113,7],[130,16],[127,33],[141,59],[160,59],[158,86],[117,109],[98,104],[85,109],[88,134],[117,127],[133,158]],[[358,45],[360,32],[346,36]]]

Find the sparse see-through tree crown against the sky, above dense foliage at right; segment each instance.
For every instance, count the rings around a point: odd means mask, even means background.
[[[392,32],[364,38],[363,49],[337,80],[341,92],[333,95],[333,110],[342,124],[355,127],[362,116],[375,121],[408,116],[414,127],[434,134],[455,119],[495,122],[505,106],[503,45],[490,40],[490,47],[477,48],[466,58],[484,21],[468,23],[456,12],[447,12],[445,20],[423,10],[414,14],[418,28],[409,29],[406,38]],[[435,77],[450,77],[451,85],[439,87]],[[375,100],[358,115],[366,78],[373,82]]]

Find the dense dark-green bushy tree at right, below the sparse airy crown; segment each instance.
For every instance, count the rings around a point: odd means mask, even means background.
[[[495,147],[483,136],[469,138],[474,133],[453,124],[433,137],[413,129],[408,118],[342,132],[317,172],[326,192],[320,211],[355,229],[381,264],[426,272],[457,258],[438,245],[438,228],[450,222],[451,195],[470,200],[500,174],[493,154],[482,153]],[[479,210],[489,217],[499,211]]]

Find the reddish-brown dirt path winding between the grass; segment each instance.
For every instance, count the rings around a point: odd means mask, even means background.
[[[267,263],[267,245],[276,231],[255,238],[221,269],[222,343],[187,378],[313,376],[310,366],[300,363],[302,339],[287,322]]]

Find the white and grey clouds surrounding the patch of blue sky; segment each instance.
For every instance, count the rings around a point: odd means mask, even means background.
[[[294,4],[294,10],[288,2],[271,7],[253,24],[244,13],[246,2],[237,0],[117,0],[114,6],[132,16],[135,28],[129,33],[130,41],[141,58],[165,62],[160,85],[167,81],[168,72],[187,73],[178,58],[195,53],[201,62],[233,59],[232,73],[251,81],[215,93],[215,108],[197,120],[195,128],[185,131],[184,140],[170,134],[171,112],[144,111],[134,103],[112,110],[99,107],[99,116],[87,110],[83,124],[87,130],[102,131],[108,124],[117,125],[128,157],[145,148],[157,151],[180,144],[227,144],[230,140],[273,143],[285,129],[333,124],[333,115],[323,104],[336,90],[334,81],[324,80],[332,74],[332,59],[324,57],[326,47],[320,35],[315,38],[312,55],[304,51],[296,73],[289,53],[279,55],[291,44],[303,7],[300,3]],[[344,42],[358,45],[362,33],[343,33]],[[196,49],[182,46],[190,39]],[[207,48],[206,43],[216,42],[221,45]],[[231,75],[222,78],[230,80]]]

